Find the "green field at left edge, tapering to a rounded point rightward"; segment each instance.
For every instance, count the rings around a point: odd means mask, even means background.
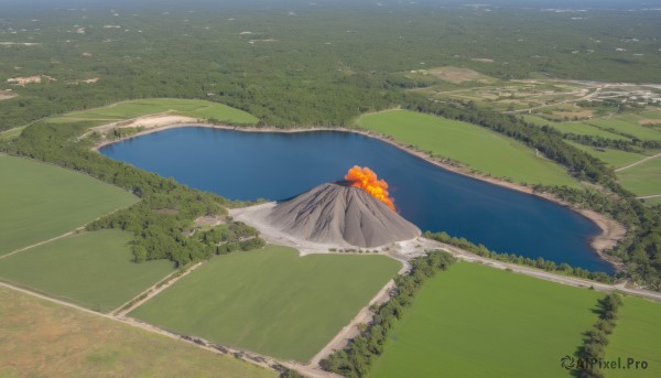
[[[0,256],[138,201],[84,174],[8,155],[0,155]]]

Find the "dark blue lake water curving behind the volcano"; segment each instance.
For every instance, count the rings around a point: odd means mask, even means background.
[[[106,156],[232,199],[283,199],[369,166],[390,184],[400,214],[499,252],[613,272],[589,247],[599,233],[552,202],[437,168],[350,132],[266,133],[178,128],[100,150]],[[497,158],[495,158],[497,159]]]

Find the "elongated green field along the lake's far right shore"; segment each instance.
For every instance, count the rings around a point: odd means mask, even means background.
[[[357,123],[492,176],[510,177],[520,183],[577,186],[562,166],[479,126],[407,110],[366,115]]]

